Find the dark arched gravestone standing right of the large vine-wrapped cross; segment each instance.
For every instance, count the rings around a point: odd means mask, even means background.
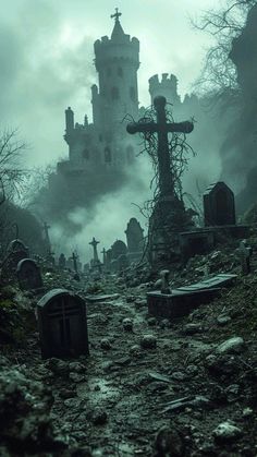
[[[234,193],[222,181],[209,185],[204,193],[205,226],[235,225]]]

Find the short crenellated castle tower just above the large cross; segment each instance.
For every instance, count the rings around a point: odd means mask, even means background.
[[[158,95],[166,97],[168,104],[178,106],[181,104],[181,98],[178,95],[178,79],[171,74],[169,77],[168,73],[162,73],[161,81],[159,81],[158,74],[155,74],[149,79],[149,93],[151,97],[151,105],[154,98]]]

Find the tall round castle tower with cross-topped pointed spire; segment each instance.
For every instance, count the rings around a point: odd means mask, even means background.
[[[99,88],[91,88],[93,118],[96,127],[109,130],[120,123],[125,115],[138,116],[137,70],[139,41],[126,35],[120,23],[121,13],[114,17],[111,38],[103,36],[95,47],[95,65]]]

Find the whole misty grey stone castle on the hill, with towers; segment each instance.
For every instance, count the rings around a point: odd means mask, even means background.
[[[58,163],[57,172],[49,179],[50,199],[54,215],[74,206],[94,204],[105,193],[124,184],[127,175],[133,179],[136,167],[138,139],[126,133],[122,122],[126,116],[137,120],[137,70],[139,68],[139,41],[125,34],[118,9],[111,17],[114,27],[111,37],[95,41],[95,67],[98,86],[91,87],[93,123],[85,116],[84,123],[74,122],[74,112],[65,110],[64,140],[69,145],[69,159]],[[163,74],[149,80],[151,100],[164,95],[174,107],[182,105],[176,92],[176,77]]]

